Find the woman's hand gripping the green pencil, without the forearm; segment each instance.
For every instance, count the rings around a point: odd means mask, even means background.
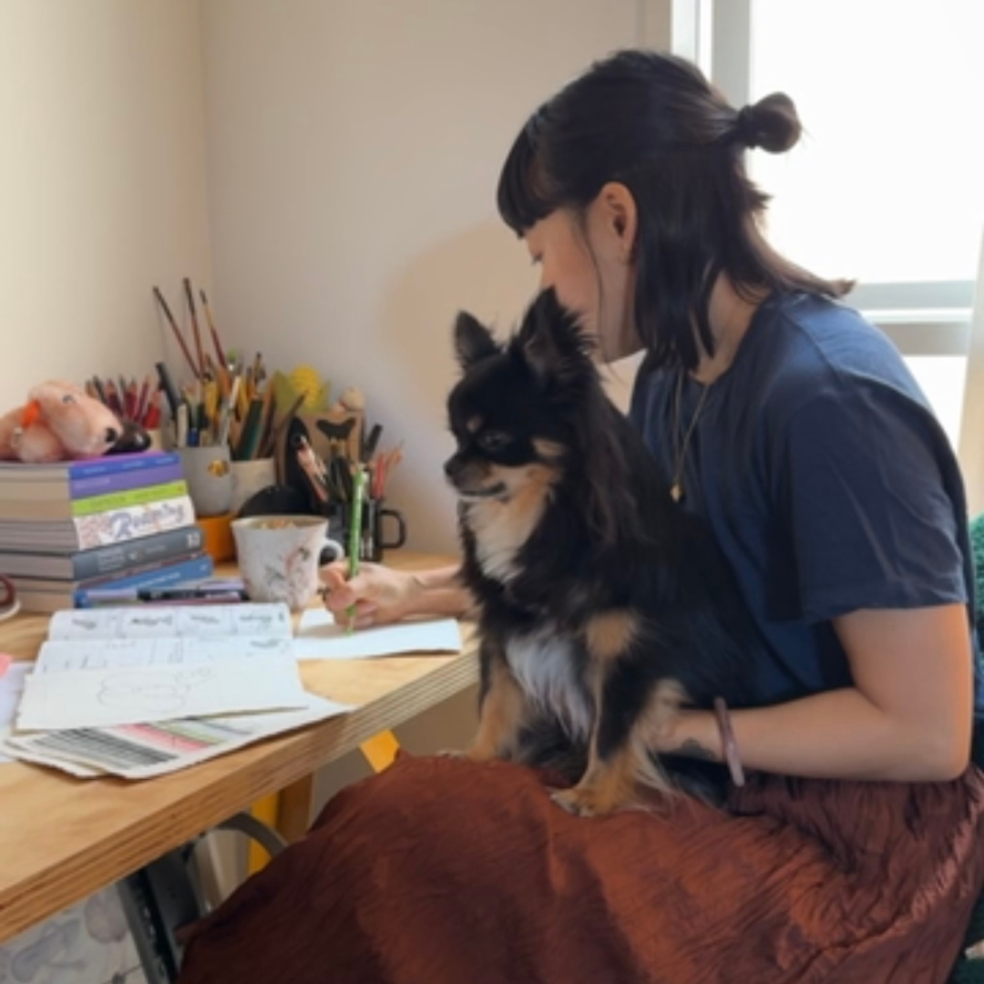
[[[409,571],[363,563],[350,581],[347,572],[348,562],[344,560],[321,569],[321,581],[327,589],[325,607],[339,622],[347,620],[352,605],[358,629],[399,622],[419,606],[424,587]]]

